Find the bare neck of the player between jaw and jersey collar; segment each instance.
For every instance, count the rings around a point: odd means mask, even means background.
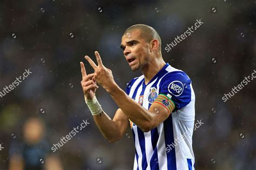
[[[149,83],[151,79],[166,65],[163,59],[154,60],[149,65],[142,69],[145,84]]]

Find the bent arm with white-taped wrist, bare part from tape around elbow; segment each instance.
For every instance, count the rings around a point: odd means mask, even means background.
[[[120,108],[117,109],[113,120],[104,111],[93,116],[93,119],[104,138],[111,143],[121,139],[129,126],[129,120]]]

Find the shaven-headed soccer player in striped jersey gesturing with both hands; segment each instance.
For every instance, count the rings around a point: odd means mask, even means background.
[[[80,62],[85,102],[99,130],[114,142],[131,126],[136,147],[133,169],[194,169],[195,96],[190,78],[164,62],[161,39],[150,26],[129,27],[121,48],[132,71],[143,73],[132,79],[125,91],[114,82],[111,70],[103,65],[97,51],[98,65],[85,56],[94,73],[87,75]],[[97,83],[119,107],[113,119],[97,101]]]

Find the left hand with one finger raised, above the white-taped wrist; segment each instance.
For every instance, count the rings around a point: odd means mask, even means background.
[[[92,73],[87,75],[83,62],[80,62],[80,66],[81,66],[81,73],[82,73],[81,86],[82,86],[84,95],[87,100],[92,100],[92,98],[95,96],[96,89],[99,88],[97,86],[95,79],[93,79],[93,76],[95,74]]]

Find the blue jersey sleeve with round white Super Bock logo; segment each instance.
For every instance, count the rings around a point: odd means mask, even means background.
[[[159,95],[165,95],[174,103],[173,111],[191,102],[191,80],[184,72],[171,72],[160,82]]]

